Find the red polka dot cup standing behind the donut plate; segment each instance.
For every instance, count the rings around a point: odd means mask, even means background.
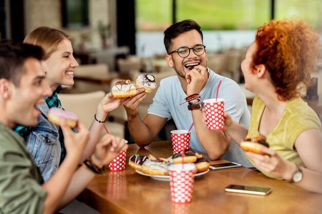
[[[171,131],[173,152],[182,151],[190,148],[190,134],[188,130]]]

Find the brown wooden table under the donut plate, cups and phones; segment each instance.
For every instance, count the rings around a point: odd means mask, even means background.
[[[133,154],[169,157],[171,142],[154,142],[146,148],[129,145],[127,160]],[[211,161],[211,164],[224,160]],[[226,193],[229,184],[272,188],[267,196]],[[79,200],[102,213],[322,213],[322,194],[311,193],[286,181],[265,177],[248,168],[209,171],[196,178],[192,202],[178,205],[171,202],[170,185],[135,172],[129,165],[125,171],[108,172],[95,179]]]

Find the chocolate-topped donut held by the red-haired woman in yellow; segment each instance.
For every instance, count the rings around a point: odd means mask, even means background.
[[[251,151],[257,154],[266,154],[260,150],[260,147],[270,147],[265,140],[266,138],[261,135],[247,135],[246,138],[240,143],[240,147],[244,151]]]

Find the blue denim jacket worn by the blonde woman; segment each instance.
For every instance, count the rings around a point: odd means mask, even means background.
[[[61,156],[59,126],[47,119],[49,108],[46,103],[37,107],[42,114],[38,119],[38,125],[27,135],[26,144],[44,181],[47,181],[59,167]]]

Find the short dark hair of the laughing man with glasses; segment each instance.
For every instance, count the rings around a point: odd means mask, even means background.
[[[184,20],[181,22],[174,23],[173,25],[170,25],[170,27],[168,27],[164,31],[164,39],[163,39],[167,53],[170,52],[171,40],[173,40],[173,38],[189,30],[198,31],[201,36],[201,41],[203,41],[204,36],[200,28],[201,28],[200,25],[198,25],[198,23],[196,23],[193,20]]]

